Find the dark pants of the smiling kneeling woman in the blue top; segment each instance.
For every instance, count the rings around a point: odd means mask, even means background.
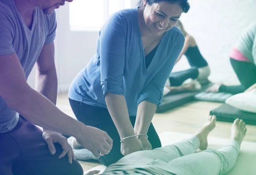
[[[87,105],[76,100],[69,99],[69,101],[77,120],[85,125],[93,126],[107,132],[113,139],[111,152],[108,155],[101,156],[99,161],[106,166],[119,161],[123,157],[120,151],[120,137],[108,109]],[[130,116],[130,120],[134,126],[136,116]],[[160,139],[152,123],[148,129],[148,141],[151,143],[153,149],[161,147]]]

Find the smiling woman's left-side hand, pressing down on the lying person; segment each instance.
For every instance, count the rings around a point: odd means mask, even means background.
[[[145,150],[136,137],[126,138],[121,142],[122,155],[128,155],[133,152]]]

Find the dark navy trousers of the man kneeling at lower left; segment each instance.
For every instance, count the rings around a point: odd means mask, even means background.
[[[22,116],[15,129],[0,133],[0,175],[83,175],[78,161],[68,163],[67,155],[55,143],[52,155],[42,138],[42,130]]]

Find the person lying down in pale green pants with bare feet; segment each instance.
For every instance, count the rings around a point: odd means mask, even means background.
[[[195,135],[173,145],[131,153],[108,166],[102,175],[223,175],[236,163],[247,128],[238,118],[231,127],[229,144],[207,149],[208,134],[215,128],[216,117],[209,116]],[[197,149],[207,149],[196,153]],[[93,175],[91,171],[85,175]]]

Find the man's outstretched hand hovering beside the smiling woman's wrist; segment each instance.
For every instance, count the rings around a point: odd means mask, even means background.
[[[113,140],[107,132],[85,125],[82,127],[82,135],[76,137],[76,141],[92,152],[96,158],[108,154],[113,146]]]

